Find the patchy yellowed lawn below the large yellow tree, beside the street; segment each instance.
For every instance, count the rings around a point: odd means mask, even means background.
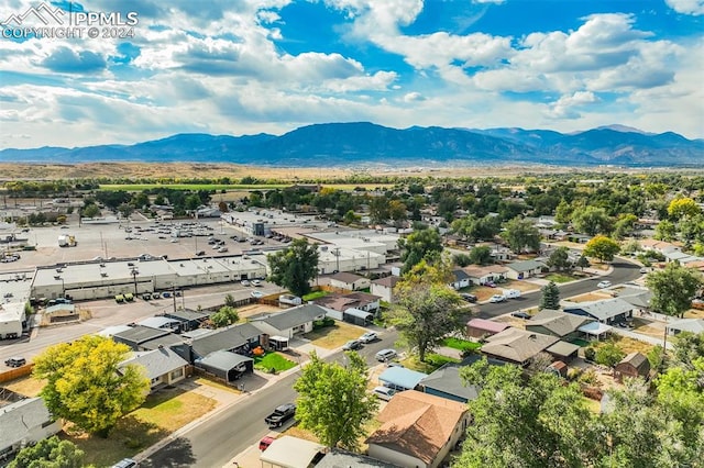
[[[179,427],[202,416],[216,406],[213,399],[179,389],[164,389],[147,397],[142,408],[122,417],[108,438],[74,433],[66,428],[64,438],[86,453],[86,464],[111,466],[134,456]],[[180,460],[191,464],[196,460]]]

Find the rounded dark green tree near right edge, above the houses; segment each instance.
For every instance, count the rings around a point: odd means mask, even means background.
[[[692,298],[702,288],[702,274],[670,261],[664,269],[646,278],[652,291],[650,307],[666,315],[682,316],[692,307]]]

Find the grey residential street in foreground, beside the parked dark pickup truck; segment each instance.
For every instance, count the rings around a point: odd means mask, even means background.
[[[376,352],[393,347],[398,338],[395,331],[386,331],[381,339],[364,345],[358,353],[370,366],[377,365]],[[343,353],[338,352],[326,360],[341,361]],[[279,404],[293,402],[297,393],[293,386],[299,377],[292,374],[275,385],[253,392],[234,405],[206,420],[187,434],[176,438],[140,463],[142,467],[222,467],[237,454],[255,444],[271,432],[264,423],[266,417]],[[284,430],[288,425],[284,426]]]

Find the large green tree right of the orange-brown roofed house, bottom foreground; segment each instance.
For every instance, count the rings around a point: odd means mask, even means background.
[[[461,369],[481,388],[469,402],[472,424],[454,467],[549,468],[587,466],[602,443],[595,416],[575,383],[482,359]]]

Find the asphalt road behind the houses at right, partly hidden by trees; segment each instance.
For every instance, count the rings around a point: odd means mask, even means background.
[[[564,299],[597,290],[598,288],[596,287],[596,283],[605,279],[609,280],[613,285],[619,285],[634,281],[642,276],[639,272],[640,265],[632,264],[623,258],[615,258],[612,266],[614,267],[613,271],[606,276],[597,276],[582,281],[558,285],[560,288],[560,298]],[[519,309],[532,308],[540,303],[540,291],[536,291],[522,294],[518,299],[509,299],[506,302],[482,304],[479,307],[479,314],[475,314],[474,316],[492,319]]]

